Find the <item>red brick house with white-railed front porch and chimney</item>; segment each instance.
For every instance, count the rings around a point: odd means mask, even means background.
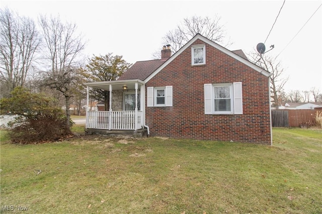
[[[110,92],[108,112],[87,114],[87,133],[272,144],[270,73],[197,34],[174,55],[133,64],[118,80],[87,82]]]

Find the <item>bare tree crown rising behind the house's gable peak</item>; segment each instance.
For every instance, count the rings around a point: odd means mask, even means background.
[[[220,24],[220,17],[201,17],[193,16],[185,18],[177,28],[170,30],[163,38],[162,44],[170,44],[173,52],[177,52],[196,34],[201,34],[211,41],[221,43],[225,38],[224,26]],[[231,44],[230,41],[226,45]],[[225,45],[225,46],[226,46]],[[160,58],[159,51],[154,52],[154,58]]]

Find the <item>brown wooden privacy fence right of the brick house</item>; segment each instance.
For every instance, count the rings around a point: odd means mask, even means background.
[[[320,110],[272,110],[273,127],[310,127]]]

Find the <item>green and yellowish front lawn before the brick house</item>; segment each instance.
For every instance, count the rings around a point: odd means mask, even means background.
[[[97,136],[15,145],[2,132],[1,206],[28,206],[24,213],[322,213],[322,131],[273,129],[273,136],[273,146]]]

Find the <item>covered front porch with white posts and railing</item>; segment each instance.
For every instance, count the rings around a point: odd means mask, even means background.
[[[91,134],[125,133],[145,130],[145,90],[139,79],[86,82],[87,112],[85,132]],[[90,87],[109,91],[109,111],[89,111]],[[114,103],[113,103],[114,102]],[[132,133],[132,132],[127,132]]]

